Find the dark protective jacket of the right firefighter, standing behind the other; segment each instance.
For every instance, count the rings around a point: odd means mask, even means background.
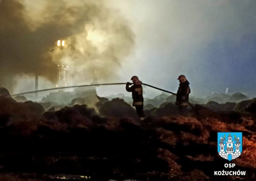
[[[180,83],[179,89],[176,96],[176,104],[181,106],[188,105],[188,95],[190,94],[189,82],[185,81]]]

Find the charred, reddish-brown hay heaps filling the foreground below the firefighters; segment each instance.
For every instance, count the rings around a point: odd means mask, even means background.
[[[254,177],[253,114],[218,114],[197,105],[200,116],[162,115],[171,107],[154,110],[161,116],[139,122],[128,104],[117,99],[99,103],[99,113],[86,105],[45,112],[40,104],[0,96],[0,180]],[[125,116],[120,118],[121,114]],[[218,155],[217,132],[243,132],[243,152],[232,163],[236,170],[246,171],[245,176],[214,176],[230,163]]]

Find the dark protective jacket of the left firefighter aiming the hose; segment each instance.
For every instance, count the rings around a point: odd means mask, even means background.
[[[138,84],[134,84],[131,87],[129,87],[129,83],[126,83],[126,91],[132,92],[132,99],[133,99],[133,104],[132,106],[138,106],[138,105],[143,105],[143,95],[142,95],[142,82],[139,82]]]

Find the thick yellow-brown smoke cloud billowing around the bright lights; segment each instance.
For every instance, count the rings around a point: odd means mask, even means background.
[[[0,24],[0,86],[10,90],[21,75],[57,82],[57,65],[68,65],[70,82],[111,79],[134,45],[126,21],[101,1],[1,0]]]

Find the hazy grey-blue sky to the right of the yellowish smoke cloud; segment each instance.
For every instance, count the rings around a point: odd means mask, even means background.
[[[120,8],[136,27],[132,73],[144,82],[175,91],[184,74],[197,96],[226,88],[255,95],[255,1],[128,2]]]

